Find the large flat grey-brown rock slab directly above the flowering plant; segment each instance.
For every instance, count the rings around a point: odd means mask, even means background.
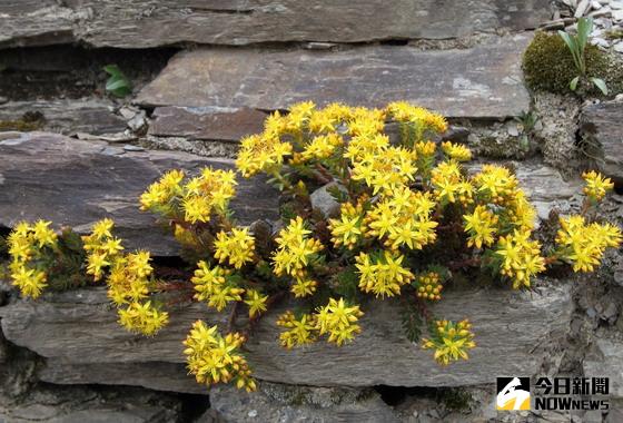
[[[528,41],[514,36],[444,51],[411,46],[198,49],[175,56],[136,101],[147,107],[280,110],[305,100],[367,107],[407,100],[448,117],[506,118],[530,108],[520,69]]]

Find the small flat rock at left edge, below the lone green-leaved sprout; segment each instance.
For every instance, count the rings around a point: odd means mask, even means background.
[[[111,111],[112,106],[111,101],[99,98],[10,101],[0,106],[0,124],[23,120],[26,114],[37,114],[41,116],[37,130],[65,135],[123,131],[126,122]]]

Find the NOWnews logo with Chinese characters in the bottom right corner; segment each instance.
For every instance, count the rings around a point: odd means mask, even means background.
[[[607,377],[497,377],[497,410],[609,410]]]

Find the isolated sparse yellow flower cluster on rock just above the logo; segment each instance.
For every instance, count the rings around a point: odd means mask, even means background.
[[[435,360],[442,365],[459,358],[467,360],[467,350],[474,348],[474,333],[468,321],[458,323],[449,321],[437,321],[435,333],[432,338],[423,338],[424,350],[434,348]]]

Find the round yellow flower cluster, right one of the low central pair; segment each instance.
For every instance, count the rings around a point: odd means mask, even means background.
[[[329,298],[329,304],[316,311],[316,328],[320,335],[329,335],[328,342],[339,346],[362,332],[357,322],[363,315],[358,305],[347,306],[344,298]]]

